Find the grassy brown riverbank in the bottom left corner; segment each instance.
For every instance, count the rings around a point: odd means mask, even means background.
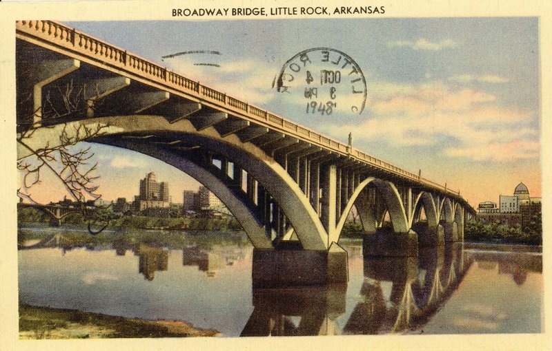
[[[217,337],[184,321],[148,321],[35,306],[19,306],[19,339]]]

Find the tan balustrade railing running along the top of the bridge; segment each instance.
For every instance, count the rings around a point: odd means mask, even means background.
[[[285,131],[295,138],[311,142],[314,145],[319,145],[331,151],[352,156],[373,167],[391,171],[414,182],[423,183],[426,186],[439,189],[450,195],[460,195],[460,191],[451,191],[451,189],[446,189],[446,187],[436,182],[421,178],[420,175],[395,167],[393,164],[370,156],[362,151],[353,150],[352,147],[339,140],[319,134],[317,131],[293,123],[286,118],[272,114],[259,107],[249,105],[242,100],[228,96],[206,85],[201,85],[199,82],[192,81],[189,78],[167,70],[166,67],[152,63],[146,58],[130,54],[115,45],[96,39],[61,23],[55,21],[16,21],[16,26],[20,32],[30,34],[38,39],[42,39],[42,41],[59,45],[71,52],[84,54],[87,58],[91,58],[103,65],[112,65],[117,69],[121,69],[122,67],[141,78],[161,83],[196,99],[207,100],[217,106],[224,105],[225,109],[237,112],[239,116],[253,120],[256,123],[275,127],[275,129]]]

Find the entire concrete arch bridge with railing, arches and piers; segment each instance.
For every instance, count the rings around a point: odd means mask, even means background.
[[[17,21],[16,39],[19,159],[86,140],[181,169],[242,224],[267,284],[316,264],[306,283],[346,281],[337,242],[353,205],[364,255],[462,241],[475,215],[460,192],[61,23]]]

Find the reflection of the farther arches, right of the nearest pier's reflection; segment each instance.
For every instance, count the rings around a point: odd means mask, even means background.
[[[420,326],[450,297],[472,261],[466,261],[462,245],[424,248],[418,257],[365,257],[363,301],[344,333],[382,334]],[[382,287],[389,283],[386,298]]]

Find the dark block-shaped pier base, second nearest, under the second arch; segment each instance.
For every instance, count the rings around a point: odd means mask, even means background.
[[[394,233],[392,228],[377,228],[374,234],[364,235],[362,253],[364,256],[417,256],[418,236],[412,230]]]

